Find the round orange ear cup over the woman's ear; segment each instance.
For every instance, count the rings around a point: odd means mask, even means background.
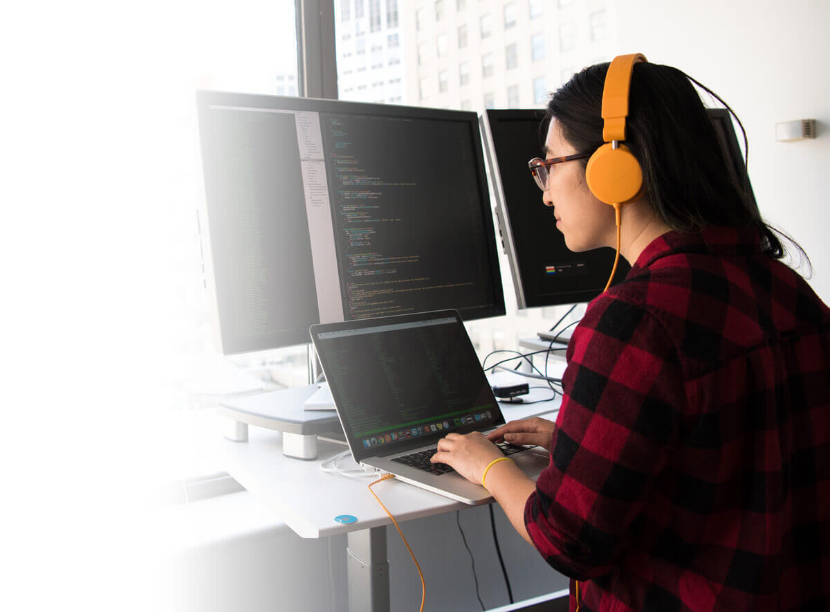
[[[642,191],[642,168],[627,146],[620,144],[614,149],[607,143],[588,159],[585,180],[599,201],[624,204]]]

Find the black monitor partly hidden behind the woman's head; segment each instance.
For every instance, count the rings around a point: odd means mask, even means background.
[[[708,112],[730,173],[749,187],[728,111]],[[614,260],[611,248],[569,251],[554,216],[542,204],[527,160],[540,154],[543,119],[544,110],[538,109],[487,110],[481,118],[496,193],[496,218],[520,309],[591,301],[603,291]],[[753,197],[751,187],[749,195]],[[621,281],[629,269],[620,258],[614,282]]]

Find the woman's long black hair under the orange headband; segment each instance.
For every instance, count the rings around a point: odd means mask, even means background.
[[[588,66],[551,96],[540,126],[551,118],[579,153],[593,153],[603,144],[601,105],[608,63]],[[684,72],[659,64],[637,64],[629,93],[625,144],[642,166],[645,196],[657,217],[671,229],[697,232],[710,226],[758,228],[761,247],[770,257],[786,254],[779,235],[761,218],[749,190],[749,179],[736,179],[720,148],[706,107]],[[735,116],[729,105],[694,81]],[[745,151],[748,143],[744,126]],[[588,160],[583,160],[583,165]]]

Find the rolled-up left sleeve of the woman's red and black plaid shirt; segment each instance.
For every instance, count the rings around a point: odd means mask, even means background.
[[[686,402],[666,330],[604,295],[574,330],[550,463],[525,504],[545,561],[577,580],[607,574],[665,468]]]

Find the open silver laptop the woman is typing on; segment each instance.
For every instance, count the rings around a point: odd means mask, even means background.
[[[355,462],[459,502],[491,501],[486,488],[429,463],[447,433],[505,424],[457,311],[326,323],[310,334]],[[499,446],[531,478],[548,465],[544,448]]]

